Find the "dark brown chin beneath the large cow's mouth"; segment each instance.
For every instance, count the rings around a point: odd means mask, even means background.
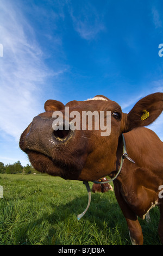
[[[33,167],[41,173],[47,173],[52,176],[60,176],[63,179],[80,180],[79,176],[83,166],[79,166],[78,162],[63,162],[52,159],[47,155],[36,151],[28,152],[29,161]]]

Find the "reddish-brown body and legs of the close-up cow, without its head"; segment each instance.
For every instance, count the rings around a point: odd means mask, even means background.
[[[127,153],[135,164],[124,160],[120,175],[114,181],[118,204],[126,217],[133,244],[143,242],[137,216],[144,218],[155,205],[163,211],[158,189],[163,184],[163,142],[145,127],[124,134]],[[160,216],[159,235],[163,241],[163,216]]]

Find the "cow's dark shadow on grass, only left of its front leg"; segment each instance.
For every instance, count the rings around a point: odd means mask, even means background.
[[[93,236],[95,237],[91,238],[93,241],[91,240],[90,242],[93,245],[96,243],[98,245],[98,241],[95,241],[97,239],[96,236],[98,236],[96,233],[104,233],[106,240],[108,236],[106,233],[110,233],[110,230],[115,229],[117,225],[121,227],[121,222],[123,222],[127,231],[126,221],[122,218],[123,216],[117,203],[110,203],[109,200],[101,197],[101,194],[92,194],[89,210],[78,221],[77,214],[82,213],[86,206],[87,196],[77,197],[65,204],[51,202],[52,213],[47,214],[44,211],[41,218],[35,218],[35,220],[28,221],[26,224],[23,223],[20,232],[15,234],[15,243],[21,245],[36,244],[36,239],[34,239],[34,235],[32,238],[32,234],[35,232],[35,237],[37,237],[39,231],[36,231],[36,229],[43,228],[45,223],[48,230],[46,229],[46,238],[43,241],[40,240],[42,245],[84,245],[84,242],[87,243],[90,237]]]

